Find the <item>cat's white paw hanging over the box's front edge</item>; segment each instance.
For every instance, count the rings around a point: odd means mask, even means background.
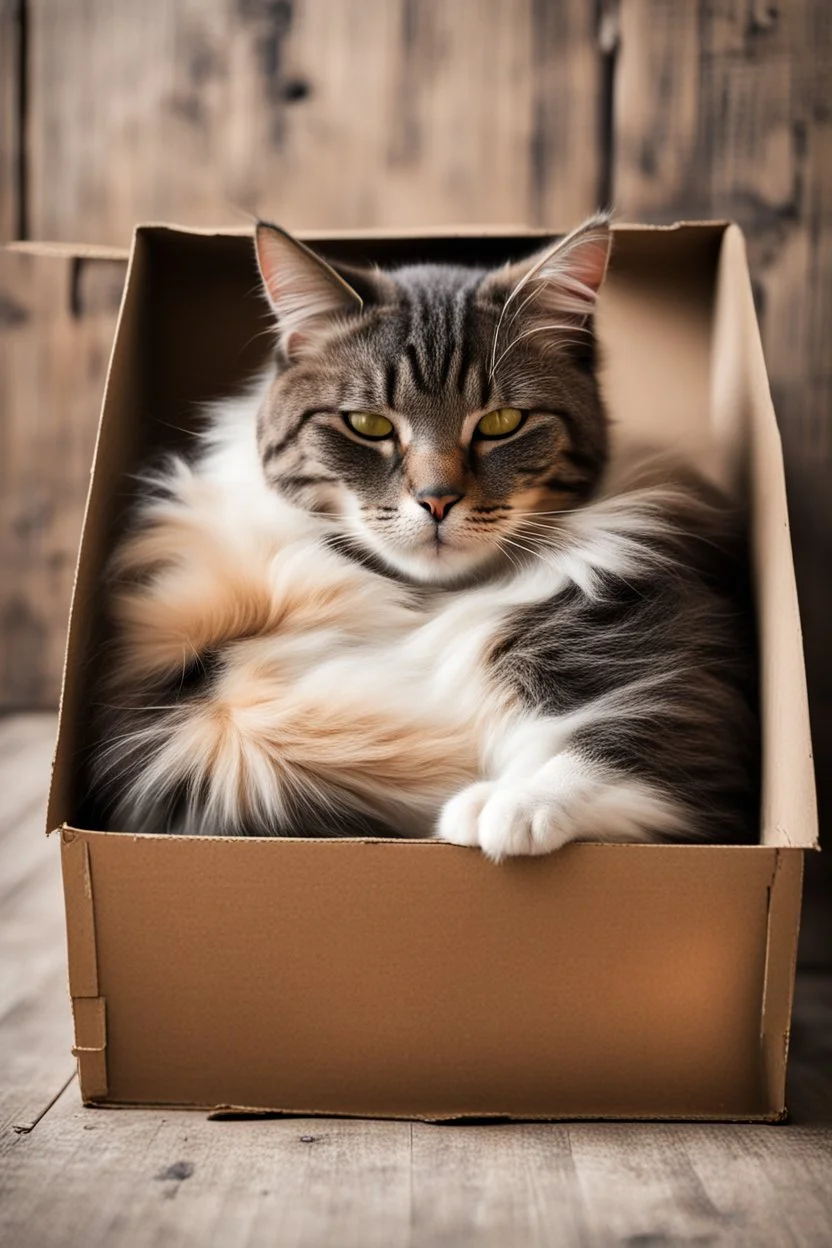
[[[560,804],[534,781],[483,781],[445,804],[437,835],[453,845],[478,845],[499,862],[515,855],[550,854],[573,840],[564,815]]]

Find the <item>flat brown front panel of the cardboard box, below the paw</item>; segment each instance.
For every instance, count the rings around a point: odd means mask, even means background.
[[[770,1111],[776,851],[90,847],[107,1094],[326,1113]]]

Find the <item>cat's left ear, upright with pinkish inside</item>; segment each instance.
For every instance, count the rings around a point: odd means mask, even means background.
[[[254,246],[287,359],[313,351],[336,317],[362,311],[360,295],[326,260],[284,230],[258,222]]]

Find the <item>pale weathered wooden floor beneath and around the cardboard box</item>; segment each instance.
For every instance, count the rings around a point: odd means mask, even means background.
[[[54,718],[0,721],[0,1243],[832,1244],[832,977],[798,985],[787,1126],[434,1127],[84,1109],[70,1056]]]

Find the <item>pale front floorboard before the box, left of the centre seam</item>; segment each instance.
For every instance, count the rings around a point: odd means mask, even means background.
[[[131,1248],[403,1248],[409,1138],[407,1123],[84,1111],[72,1085],[2,1158],[0,1234],[42,1248],[114,1236]]]

